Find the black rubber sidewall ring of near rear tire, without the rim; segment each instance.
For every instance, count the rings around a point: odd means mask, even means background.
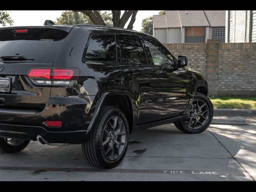
[[[108,122],[108,120],[112,116],[120,117],[122,119],[122,121],[124,122],[125,129],[126,129],[126,140],[125,140],[124,150],[123,150],[122,154],[116,160],[108,160],[108,158],[104,154],[103,146],[102,146],[102,136],[103,136],[103,132],[104,132],[104,127],[105,127],[106,123]],[[126,154],[127,148],[128,148],[128,143],[129,143],[129,125],[128,125],[128,121],[127,121],[124,113],[121,110],[117,109],[117,108],[112,108],[110,110],[110,112],[106,116],[104,116],[103,118],[104,118],[104,120],[99,125],[100,128],[97,130],[97,135],[99,135],[99,137],[96,138],[97,146],[100,147],[100,153],[102,154],[102,158],[104,159],[106,164],[108,164],[109,166],[117,166],[120,162],[122,162],[122,160],[123,160],[123,158]]]

